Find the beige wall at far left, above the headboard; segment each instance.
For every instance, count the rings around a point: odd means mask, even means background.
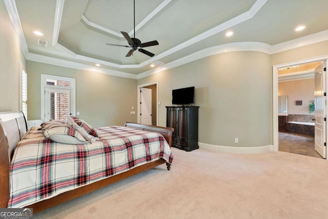
[[[5,3],[0,1],[0,111],[19,110],[20,63],[25,66],[25,56]]]

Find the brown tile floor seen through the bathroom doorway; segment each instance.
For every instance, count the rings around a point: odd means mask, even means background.
[[[291,132],[279,132],[279,151],[322,158],[314,150],[314,137]]]

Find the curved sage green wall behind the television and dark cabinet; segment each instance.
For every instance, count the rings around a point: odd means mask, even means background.
[[[195,86],[201,143],[257,147],[273,144],[270,55],[242,51],[212,55],[138,79],[158,81],[159,126],[166,126],[172,89]],[[239,143],[234,143],[235,137]]]

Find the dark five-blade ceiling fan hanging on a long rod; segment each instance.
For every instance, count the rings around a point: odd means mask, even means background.
[[[106,45],[120,46],[120,47],[130,47],[131,49],[128,52],[128,54],[126,55],[126,57],[131,56],[132,53],[135,50],[138,50],[139,52],[142,52],[146,55],[149,55],[149,56],[153,57],[155,54],[153,54],[153,53],[151,53],[147,50],[144,50],[142,48],[159,45],[158,42],[157,41],[150,41],[150,42],[147,42],[147,43],[141,43],[140,39],[135,38],[135,0],[133,0],[133,22],[134,22],[134,24],[133,24],[134,25],[133,26],[134,37],[133,38],[131,38],[128,33],[121,31],[121,34],[127,39],[130,46],[117,45],[117,44],[106,44]],[[140,48],[138,48],[138,47],[140,47]]]

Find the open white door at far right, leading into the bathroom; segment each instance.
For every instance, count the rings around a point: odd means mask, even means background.
[[[315,69],[315,150],[326,158],[326,103],[323,93],[326,90],[326,75],[323,71],[323,63]]]

